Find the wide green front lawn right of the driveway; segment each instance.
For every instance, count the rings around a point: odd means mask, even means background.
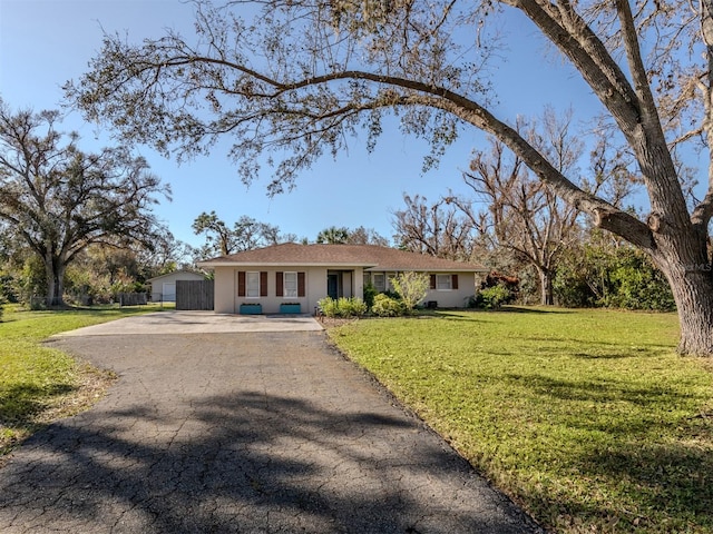
[[[512,308],[330,336],[547,528],[713,532],[713,374],[674,354],[674,315]]]

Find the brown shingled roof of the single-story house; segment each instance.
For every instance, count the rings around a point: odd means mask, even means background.
[[[198,261],[201,267],[363,267],[365,270],[487,273],[479,264],[452,261],[377,245],[284,243]]]

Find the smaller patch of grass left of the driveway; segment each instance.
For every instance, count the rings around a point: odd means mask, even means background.
[[[60,332],[106,323],[157,306],[27,312],[6,306],[0,322],[0,457],[51,421],[99,398],[111,375],[42,345]]]

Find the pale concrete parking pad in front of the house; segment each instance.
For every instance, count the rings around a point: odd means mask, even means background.
[[[310,332],[322,326],[309,315],[228,315],[166,310],[125,317],[60,334],[75,336],[140,336],[160,334],[231,334],[245,332]]]

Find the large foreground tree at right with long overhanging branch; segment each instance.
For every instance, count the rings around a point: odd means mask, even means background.
[[[191,40],[172,31],[139,44],[107,36],[89,72],[67,86],[69,97],[125,139],[179,157],[233,136],[231,156],[245,181],[264,154],[277,158],[271,192],[289,189],[363,129],[373,148],[390,112],[403,134],[430,141],[427,167],[463,127],[481,129],[558,198],[644,250],[676,298],[680,350],[713,354],[713,167],[703,195],[686,198],[676,157],[684,142],[705,146],[713,128],[710,2],[264,0],[252,21],[240,17],[245,3],[195,2]],[[645,217],[579,187],[497,116],[490,69],[499,43],[517,31],[510,13],[529,19],[598,100],[599,123],[646,188]],[[521,80],[521,90],[535,82]]]

